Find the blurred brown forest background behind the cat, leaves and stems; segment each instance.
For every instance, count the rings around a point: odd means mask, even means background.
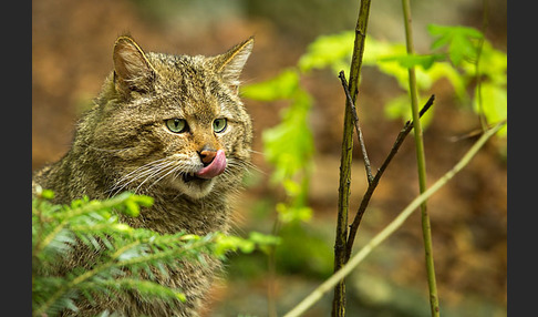
[[[486,39],[506,52],[506,1],[489,0]],[[32,1],[32,168],[59,160],[69,149],[77,117],[112,70],[117,35],[130,32],[146,51],[218,54],[256,37],[242,73],[245,84],[293,67],[317,37],[353,30],[359,1],[352,0],[116,0]],[[427,52],[430,23],[480,30],[484,1],[412,1],[415,50]],[[369,34],[404,43],[400,1],[373,1]],[[369,50],[366,44],[365,50]],[[351,51],[350,51],[351,54]],[[483,65],[487,68],[487,65]],[[349,67],[344,69],[348,73]],[[309,124],[314,168],[308,204],[310,221],[283,226],[277,248],[275,300],[279,315],[297,305],[332,273],[344,95],[338,74],[318,70],[301,79],[314,98]],[[383,105],[403,93],[393,78],[364,67],[359,116],[370,160],[379,167],[402,127]],[[434,115],[425,137],[428,182],[449,170],[476,139],[458,136],[480,127],[469,104],[456,102],[447,81],[436,82]],[[261,133],[279,123],[286,101],[245,99]],[[412,137],[411,137],[412,139]],[[355,249],[383,228],[417,195],[415,151],[405,141],[384,174],[362,222]],[[505,316],[507,304],[506,140],[492,140],[473,162],[428,203],[439,304],[444,316]],[[362,156],[354,149],[351,215],[366,186]],[[235,232],[270,234],[282,192],[268,178],[271,166],[254,154],[247,190],[237,200]],[[267,316],[270,283],[267,256],[231,255],[227,274],[207,304],[207,316]],[[307,316],[329,316],[332,293]],[[428,316],[421,218],[416,214],[348,278],[349,316]]]

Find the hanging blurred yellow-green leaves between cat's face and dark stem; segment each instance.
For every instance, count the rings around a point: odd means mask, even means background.
[[[312,168],[313,139],[308,123],[312,98],[300,85],[300,71],[283,70],[276,78],[242,89],[242,95],[260,101],[289,100],[281,122],[263,131],[263,154],[275,166],[272,184],[280,184],[287,201],[277,204],[283,223],[308,221],[312,211],[307,205]]]

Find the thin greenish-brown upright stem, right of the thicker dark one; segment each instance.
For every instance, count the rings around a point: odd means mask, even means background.
[[[405,25],[405,43],[407,47],[407,54],[414,54],[413,48],[413,32],[411,28],[411,6],[410,0],[402,0],[404,25]],[[411,108],[413,112],[413,129],[415,135],[415,149],[416,149],[416,163],[418,168],[418,185],[421,194],[426,191],[426,157],[424,153],[424,143],[422,137],[422,125],[418,115],[418,92],[416,86],[415,69],[411,67],[408,69],[410,80],[410,95]],[[435,268],[433,260],[433,247],[432,247],[432,232],[430,226],[430,216],[427,214],[427,204],[424,201],[421,204],[422,212],[422,233],[424,239],[424,252],[426,257],[426,272],[427,282],[430,288],[430,306],[432,316],[439,316],[439,305],[437,298],[437,286],[435,282]]]

